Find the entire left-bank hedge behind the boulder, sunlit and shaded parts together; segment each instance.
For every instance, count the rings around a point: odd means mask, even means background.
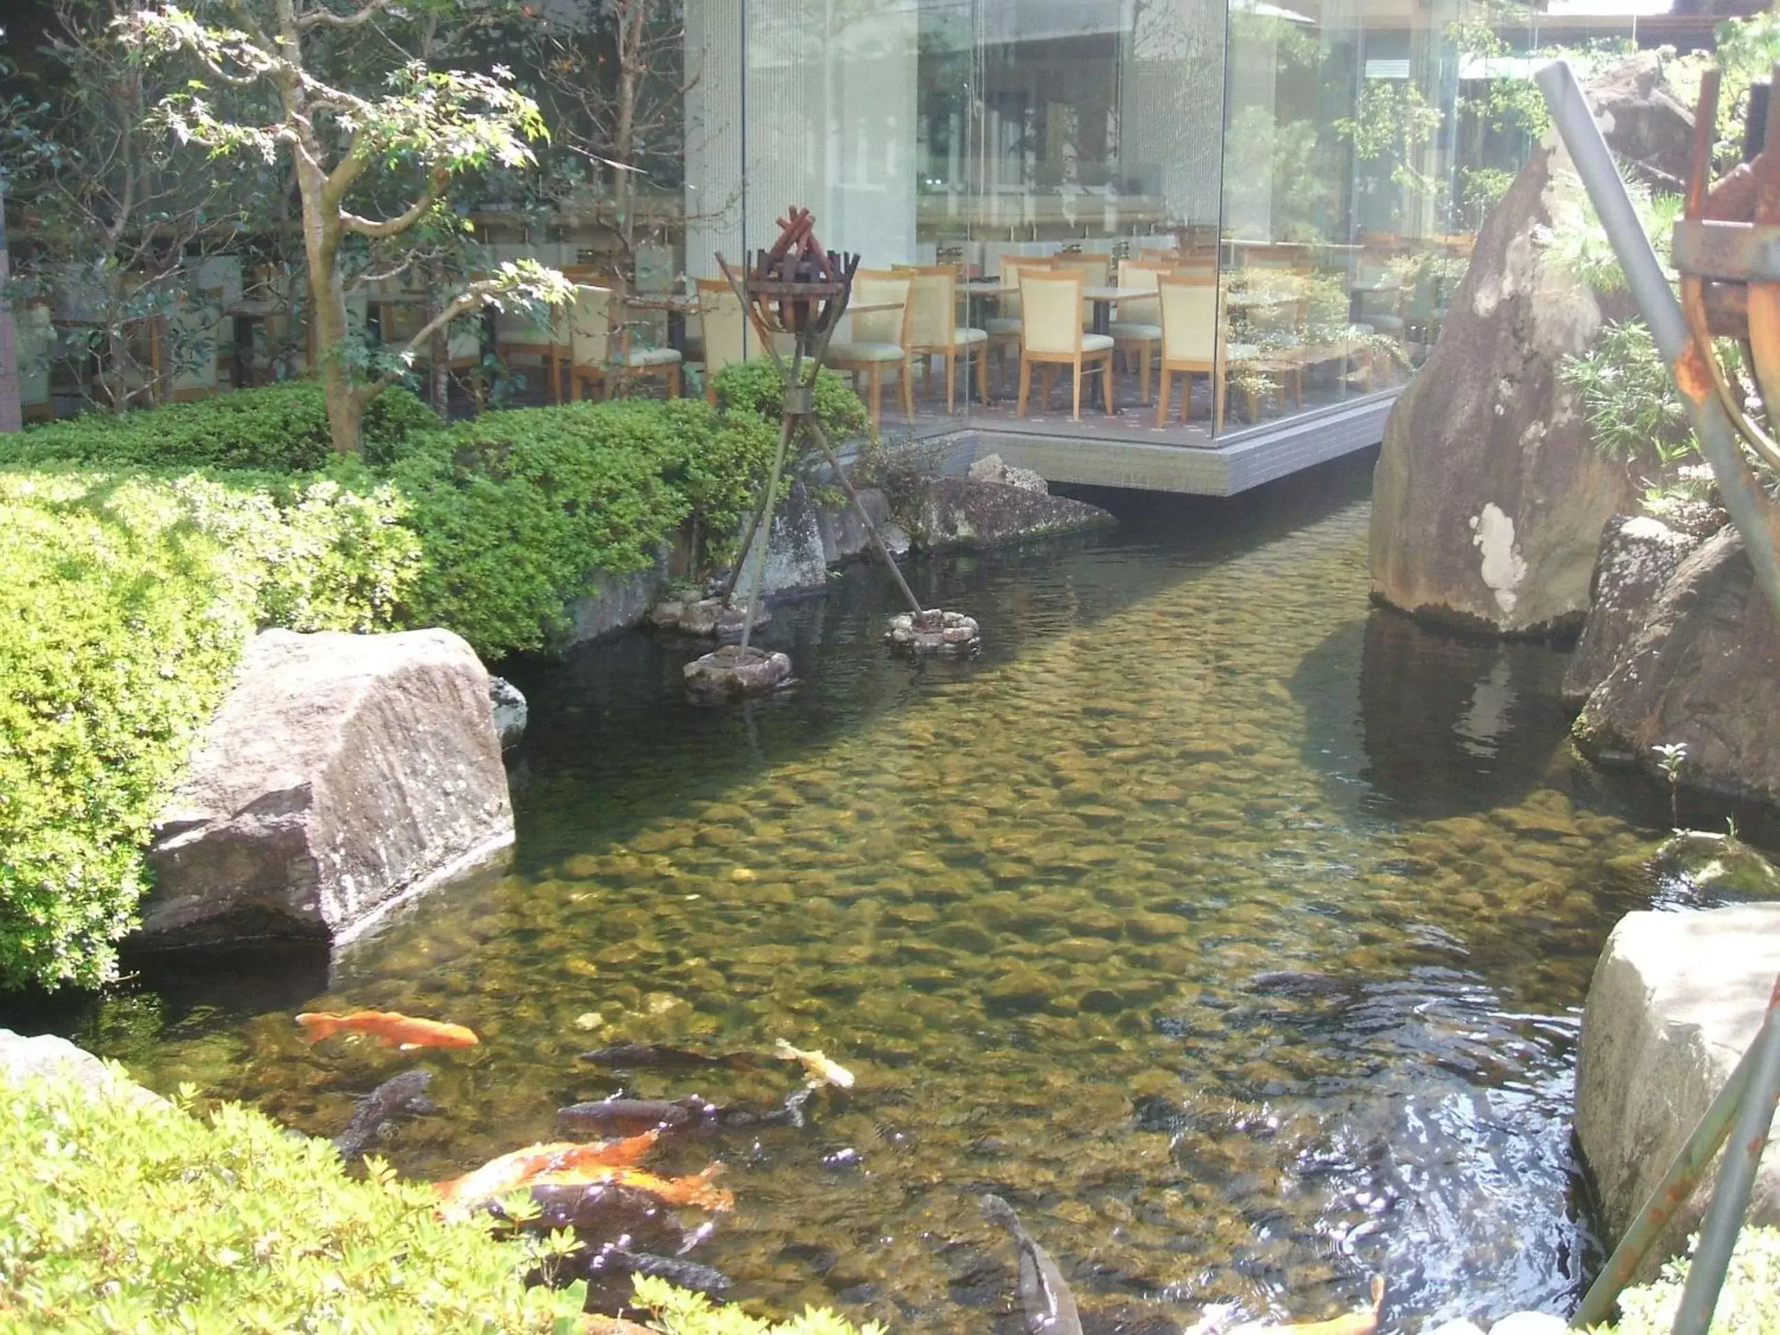
[[[835,388],[838,425],[858,399]],[[0,988],[110,975],[150,822],[255,627],[440,625],[490,659],[541,648],[593,571],[648,564],[689,518],[732,543],[778,440],[701,400],[450,431],[408,395],[381,402],[386,468],[333,456],[313,386],[20,440],[32,466],[0,472]],[[91,468],[107,457],[126,466]],[[169,466],[128,466],[142,459]],[[287,470],[171,466],[217,459]]]

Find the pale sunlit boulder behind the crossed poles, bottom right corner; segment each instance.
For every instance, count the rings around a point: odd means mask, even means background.
[[[1582,1013],[1575,1134],[1614,1239],[1755,1038],[1776,974],[1780,904],[1630,913],[1613,929]],[[1712,1177],[1677,1212],[1641,1280],[1686,1250],[1711,1189]],[[1773,1152],[1750,1219],[1780,1223]]]

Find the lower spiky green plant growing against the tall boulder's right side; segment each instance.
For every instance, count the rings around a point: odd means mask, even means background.
[[[1563,360],[1558,379],[1581,402],[1595,449],[1609,459],[1670,463],[1696,449],[1687,409],[1643,320],[1604,326],[1582,356]]]

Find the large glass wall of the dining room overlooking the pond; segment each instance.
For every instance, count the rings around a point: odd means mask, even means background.
[[[1534,142],[1504,89],[1529,91],[1538,21],[1477,0],[687,0],[685,265],[769,244],[790,203],[869,269],[943,265],[951,310],[924,312],[913,360],[954,354],[961,386],[981,344],[988,402],[922,376],[917,425],[1013,425],[1020,262],[1080,271],[1084,347],[1114,340],[1114,411],[1084,404],[1080,429],[1191,445],[1351,404],[1426,358]],[[1164,303],[1159,276],[1218,299]],[[1159,422],[1164,354],[1210,367]],[[1068,399],[1027,420],[1070,422]]]

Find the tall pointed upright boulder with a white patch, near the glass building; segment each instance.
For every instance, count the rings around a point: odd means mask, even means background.
[[[1581,215],[1582,187],[1547,144],[1479,230],[1440,340],[1385,425],[1378,600],[1492,634],[1581,627],[1600,530],[1639,491],[1558,379],[1604,320],[1632,315],[1625,294],[1593,292],[1552,258],[1552,224]]]

